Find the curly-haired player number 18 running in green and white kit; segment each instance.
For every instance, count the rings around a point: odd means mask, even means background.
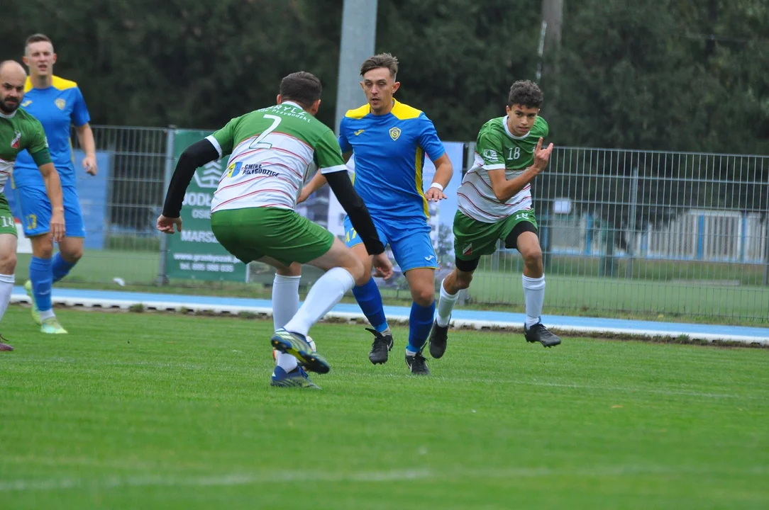
[[[542,91],[531,81],[516,81],[510,88],[505,117],[481,127],[475,162],[457,191],[454,216],[454,270],[441,283],[438,313],[430,334],[430,355],[446,352],[451,310],[461,289],[467,289],[481,255],[494,253],[497,240],[517,248],[524,258],[524,334],[531,343],[557,346],[561,339],[541,323],[544,303],[544,268],[531,207],[531,181],[548,166],[553,144],[542,148],[548,123],[539,117]]]

